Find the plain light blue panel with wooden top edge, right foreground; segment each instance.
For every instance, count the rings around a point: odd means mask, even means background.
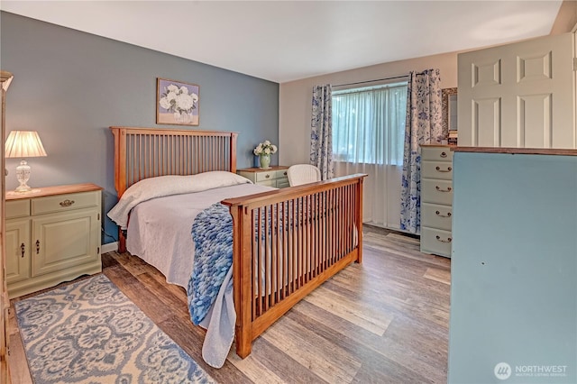
[[[453,153],[449,383],[577,382],[577,151]]]

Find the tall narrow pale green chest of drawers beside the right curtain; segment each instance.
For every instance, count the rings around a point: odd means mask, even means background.
[[[448,145],[421,146],[421,251],[451,257],[453,152]]]

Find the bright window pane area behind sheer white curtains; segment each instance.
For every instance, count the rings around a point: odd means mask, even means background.
[[[407,82],[333,91],[335,161],[403,165]]]

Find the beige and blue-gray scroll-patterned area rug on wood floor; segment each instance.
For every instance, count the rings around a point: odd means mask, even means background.
[[[213,383],[105,275],[15,303],[35,383]]]

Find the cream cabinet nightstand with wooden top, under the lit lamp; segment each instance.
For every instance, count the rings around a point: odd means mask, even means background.
[[[101,190],[87,183],[6,192],[10,298],[102,271]]]

